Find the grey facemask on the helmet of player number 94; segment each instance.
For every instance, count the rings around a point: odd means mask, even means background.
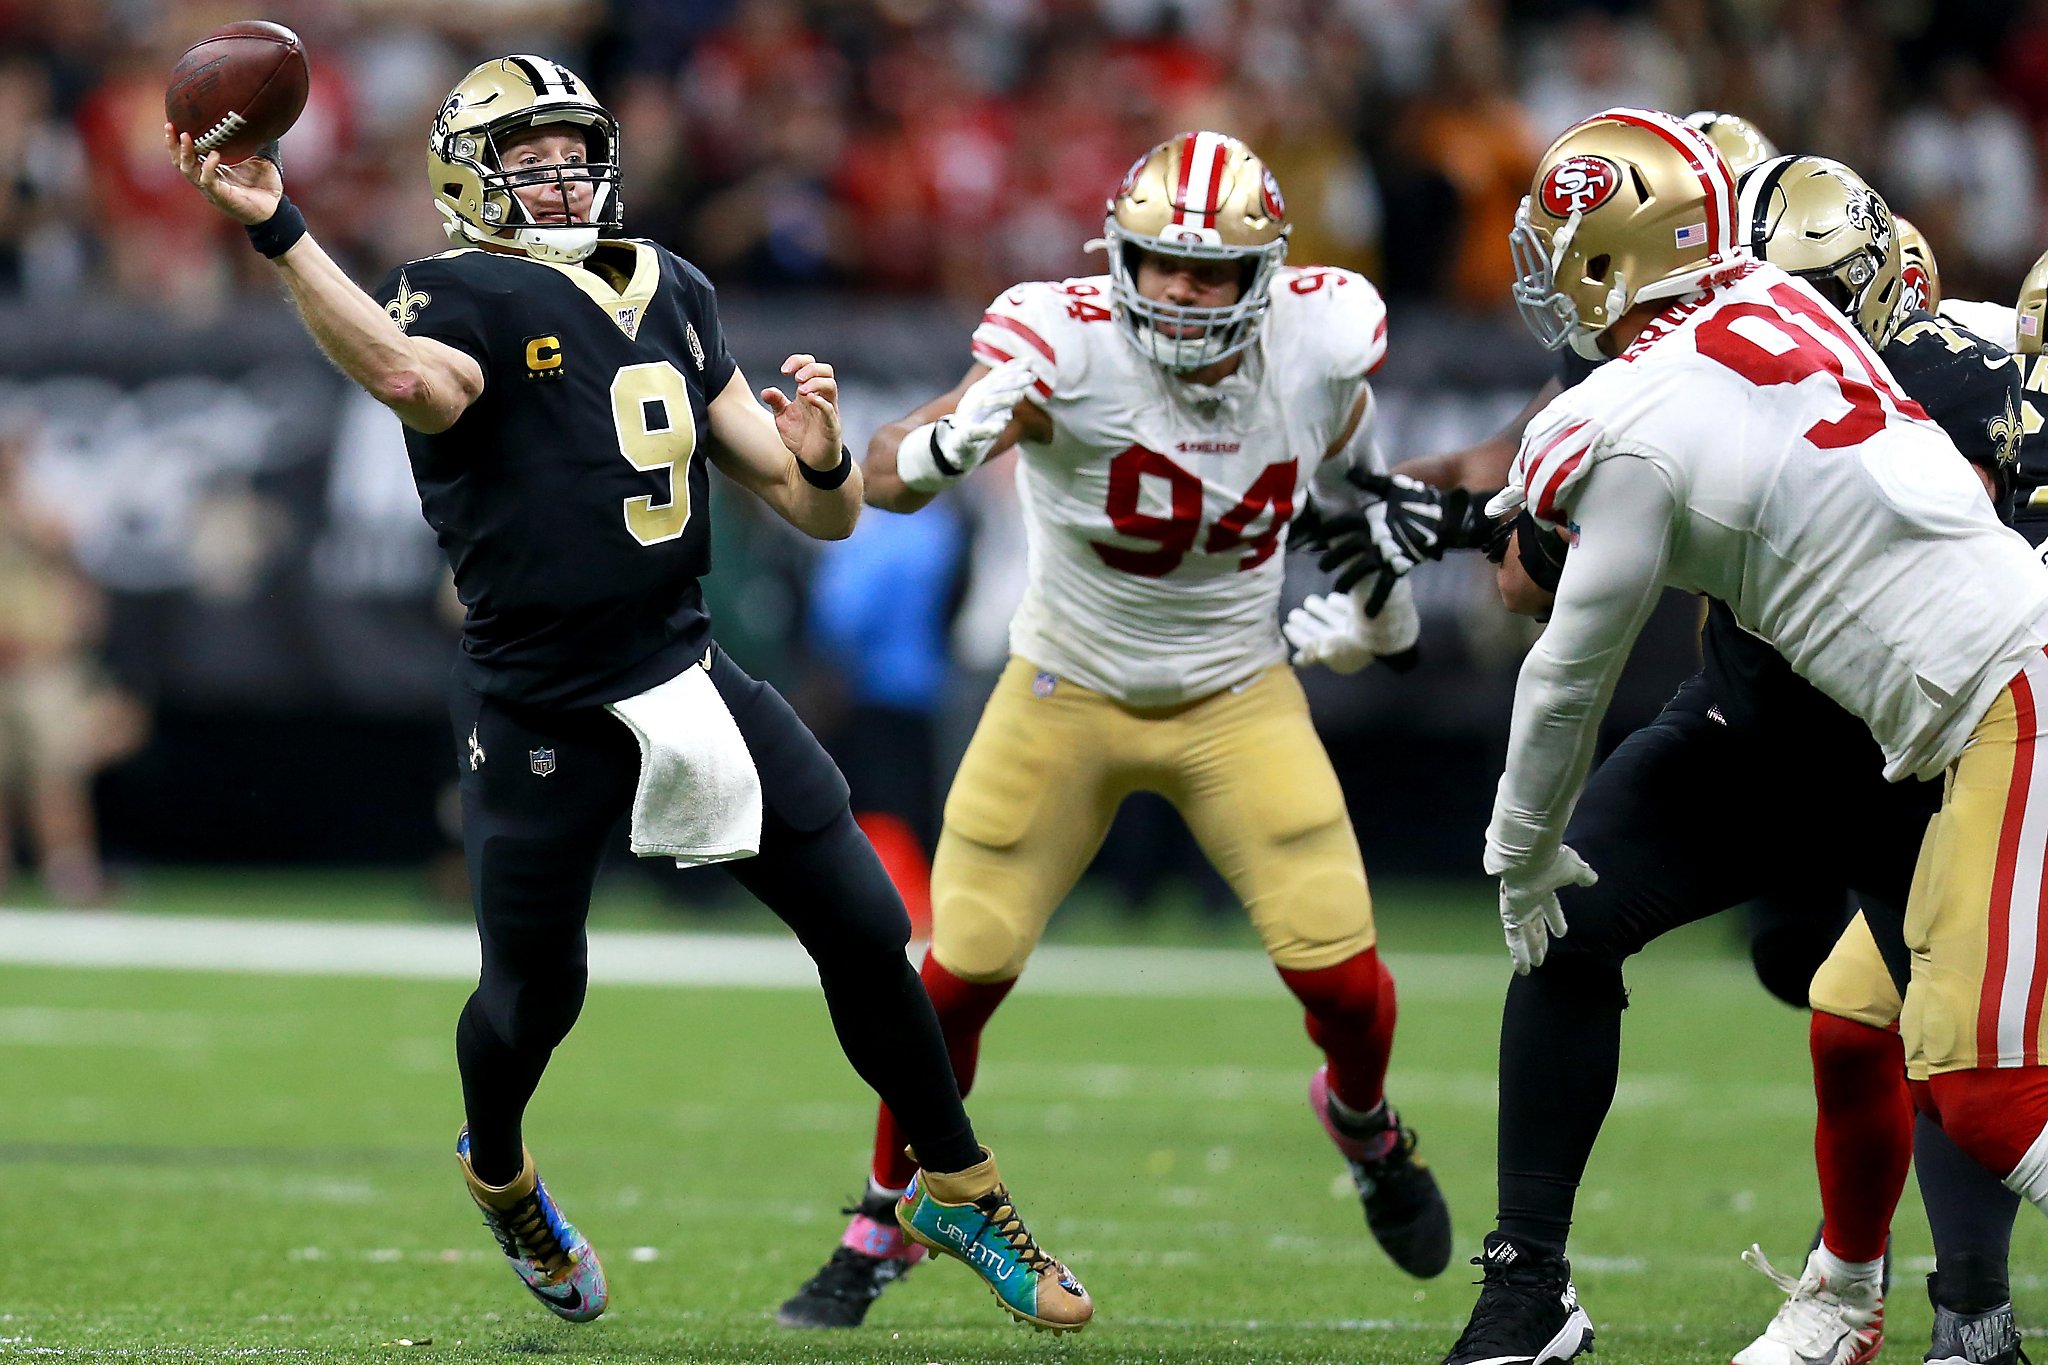
[[[1251,346],[1260,321],[1272,307],[1274,272],[1286,260],[1286,237],[1264,246],[1225,246],[1202,241],[1212,229],[1176,229],[1182,237],[1165,241],[1135,233],[1112,215],[1104,223],[1104,248],[1110,254],[1110,295],[1116,299],[1116,321],[1124,336],[1153,362],[1174,372],[1200,370],[1227,360]],[[1190,239],[1192,237],[1192,239]],[[1237,299],[1219,307],[1192,307],[1147,299],[1139,293],[1139,252],[1167,260],[1227,260],[1237,264]]]

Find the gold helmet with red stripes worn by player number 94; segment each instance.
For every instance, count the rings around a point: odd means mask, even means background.
[[[1141,156],[1108,205],[1102,241],[1124,336],[1169,370],[1235,356],[1257,336],[1286,260],[1286,201],[1251,147],[1225,133],[1178,133]],[[1239,264],[1237,301],[1202,309],[1147,299],[1143,252]]]

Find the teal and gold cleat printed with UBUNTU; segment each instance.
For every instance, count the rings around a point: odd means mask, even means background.
[[[981,1148],[981,1156],[950,1175],[920,1171],[897,1201],[897,1224],[909,1240],[967,1263],[1018,1322],[1081,1330],[1096,1316],[1087,1289],[1038,1248],[995,1173],[995,1154]]]

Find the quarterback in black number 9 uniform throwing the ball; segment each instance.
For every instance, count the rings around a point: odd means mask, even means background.
[[[709,280],[618,235],[618,125],[547,57],[485,61],[442,102],[428,180],[457,250],[375,295],[307,235],[274,160],[223,166],[168,125],[164,139],[248,227],[328,358],[403,422],[455,571],[455,755],[483,948],[457,1021],[457,1158],[518,1279],[571,1322],[608,1300],[520,1121],[582,1009],[592,878],[627,819],[635,853],[723,862],[797,931],[840,1046],[922,1160],[897,1205],[905,1232],[969,1263],[1014,1316],[1083,1326],[1085,1289],[975,1142],[903,956],[909,919],[846,782],[705,614],[713,465],[809,536],[852,532],[860,473],[831,366],[791,356],[795,397],[754,395]]]

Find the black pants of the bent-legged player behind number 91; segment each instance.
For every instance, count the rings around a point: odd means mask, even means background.
[[[1774,896],[1778,941],[1757,952],[1778,988],[1812,978],[1853,892],[1903,988],[1905,900],[1935,800],[1931,784],[1884,782],[1876,745],[1843,726],[1724,724],[1704,677],[1622,741],[1565,831],[1599,882],[1559,892],[1569,931],[1501,1013],[1501,1232],[1563,1250],[1614,1103],[1622,962],[1657,935]]]

